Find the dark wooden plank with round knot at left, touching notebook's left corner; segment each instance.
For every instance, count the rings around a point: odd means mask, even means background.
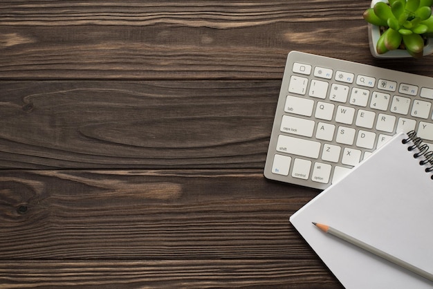
[[[317,190],[261,170],[9,171],[0,260],[314,259],[288,222]]]

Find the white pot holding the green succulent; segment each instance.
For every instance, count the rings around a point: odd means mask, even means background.
[[[371,8],[374,7],[374,5],[378,2],[385,2],[388,3],[388,0],[372,0],[371,1]],[[377,58],[402,58],[402,57],[412,57],[406,50],[404,49],[396,49],[396,50],[389,50],[386,53],[378,54],[376,50],[376,45],[378,43],[379,37],[380,37],[380,27],[368,24],[369,27],[369,44],[370,44],[370,51],[371,55]],[[430,55],[433,53],[433,35],[430,35],[427,37],[427,44],[424,46],[423,55]]]

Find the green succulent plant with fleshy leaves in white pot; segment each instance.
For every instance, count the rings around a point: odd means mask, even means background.
[[[370,24],[383,27],[376,50],[386,53],[404,45],[413,57],[422,57],[424,38],[433,32],[433,0],[389,0],[378,2],[364,12]]]

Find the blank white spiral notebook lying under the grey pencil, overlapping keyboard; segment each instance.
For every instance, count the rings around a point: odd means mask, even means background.
[[[291,216],[344,287],[433,288],[431,281],[328,236],[311,223],[331,225],[433,272],[433,153],[421,141],[415,133],[398,133]]]

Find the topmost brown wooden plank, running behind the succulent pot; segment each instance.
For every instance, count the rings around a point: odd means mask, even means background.
[[[280,80],[290,50],[433,76],[429,58],[410,65],[372,59],[361,17],[368,6],[367,0],[3,1],[0,79]]]

